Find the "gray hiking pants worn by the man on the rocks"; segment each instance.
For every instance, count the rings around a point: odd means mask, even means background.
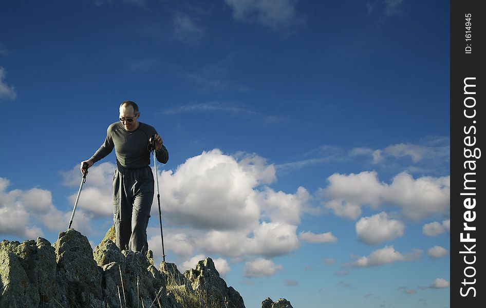
[[[147,225],[153,200],[154,175],[149,166],[118,166],[113,176],[113,221],[120,250],[147,253]]]

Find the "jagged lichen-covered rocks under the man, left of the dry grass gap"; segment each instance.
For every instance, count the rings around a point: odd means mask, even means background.
[[[0,307],[182,308],[167,294],[165,276],[153,259],[120,252],[106,237],[95,251],[74,229],[61,232],[53,246],[43,238],[3,241]]]

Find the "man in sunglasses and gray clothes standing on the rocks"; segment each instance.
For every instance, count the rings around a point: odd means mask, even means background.
[[[148,145],[155,140],[157,160],[166,163],[169,152],[154,127],[138,122],[140,112],[136,103],[120,105],[120,122],[108,126],[105,142],[90,159],[81,162],[87,168],[107,156],[113,148],[117,169],[113,176],[113,220],[116,244],[120,248],[146,254],[147,224],[154,199],[154,176],[150,165]],[[154,137],[152,137],[154,136]]]

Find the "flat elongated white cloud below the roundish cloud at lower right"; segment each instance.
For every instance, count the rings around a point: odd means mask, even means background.
[[[398,261],[415,261],[420,258],[422,251],[413,249],[408,254],[397,252],[393,246],[385,246],[377,251],[372,252],[368,257],[361,257],[356,261],[346,263],[346,267],[370,267],[389,264]]]

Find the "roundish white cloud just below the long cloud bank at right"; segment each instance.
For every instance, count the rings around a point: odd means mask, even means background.
[[[363,217],[356,223],[358,237],[367,244],[375,245],[403,236],[405,224],[396,219],[389,219],[385,212],[370,217]]]

